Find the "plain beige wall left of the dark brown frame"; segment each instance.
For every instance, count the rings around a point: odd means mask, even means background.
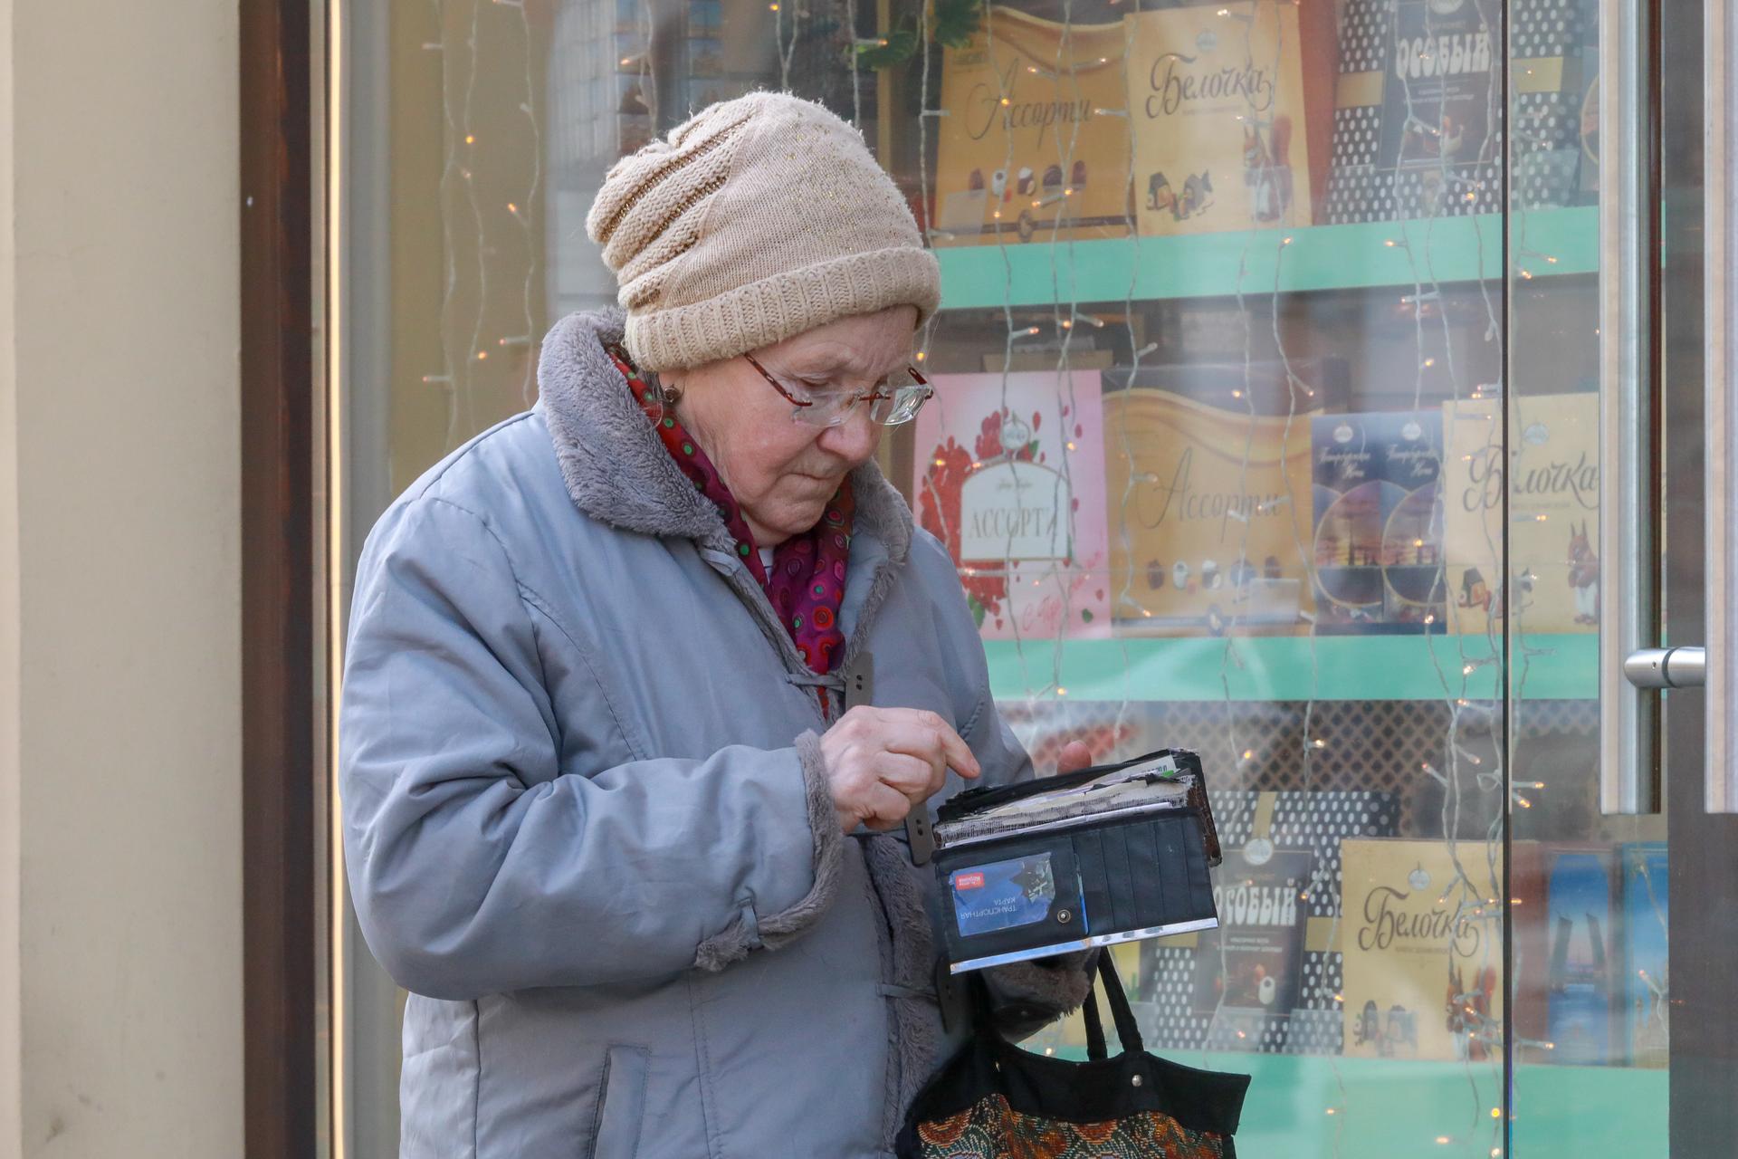
[[[236,5],[0,24],[0,1159],[233,1159]]]

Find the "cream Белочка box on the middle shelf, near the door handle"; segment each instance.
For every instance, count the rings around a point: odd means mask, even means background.
[[[1486,634],[1503,617],[1502,511],[1509,493],[1512,627],[1599,629],[1599,398],[1516,401],[1507,471],[1502,401],[1443,403],[1443,518],[1448,624]]]

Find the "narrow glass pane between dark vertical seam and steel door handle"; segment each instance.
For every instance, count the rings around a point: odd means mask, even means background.
[[[1599,613],[1625,598],[1599,556],[1601,401],[1618,389],[1599,361],[1602,30],[1587,0],[1512,14],[1514,1152],[1663,1156],[1665,817],[1606,817],[1599,803]]]

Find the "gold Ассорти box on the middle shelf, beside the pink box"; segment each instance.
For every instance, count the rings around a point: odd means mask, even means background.
[[[1297,629],[1310,591],[1310,415],[1345,363],[1105,374],[1105,493],[1116,631]],[[1210,405],[1218,403],[1218,405]]]

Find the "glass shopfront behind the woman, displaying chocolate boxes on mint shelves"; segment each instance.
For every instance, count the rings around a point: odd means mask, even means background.
[[[1203,758],[1222,926],[1118,949],[1149,1048],[1255,1076],[1257,1157],[1729,1140],[1738,834],[1703,693],[1622,681],[1724,631],[1721,3],[332,3],[337,601],[614,302],[608,167],[756,87],[822,101],[942,266],[939,394],[879,459],[1003,714],[1041,772]],[[332,1147],[393,1154],[401,996],[334,924]]]

